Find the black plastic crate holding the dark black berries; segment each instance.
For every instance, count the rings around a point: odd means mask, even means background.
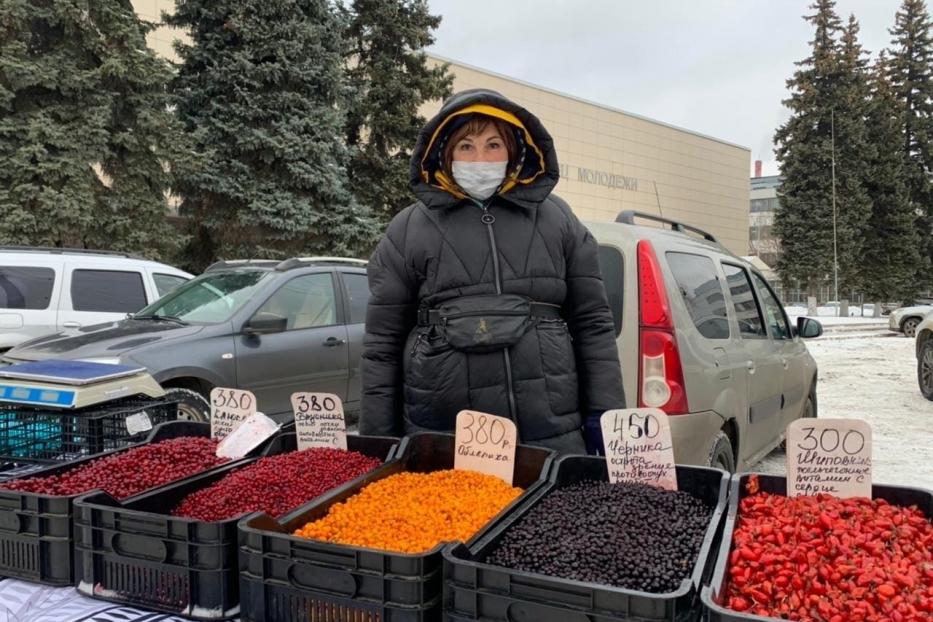
[[[583,480],[608,481],[604,458],[566,456],[548,484],[474,544],[444,550],[447,620],[483,622],[682,622],[697,620],[699,589],[726,508],[729,474],[718,469],[677,466],[677,488],[713,506],[709,527],[690,578],[667,594],[572,581],[485,563],[505,533],[551,491]]]

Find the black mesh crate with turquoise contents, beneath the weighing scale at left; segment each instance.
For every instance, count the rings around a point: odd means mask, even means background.
[[[56,463],[127,447],[148,434],[126,427],[141,412],[158,425],[177,418],[178,403],[130,398],[80,410],[0,404],[0,461]]]

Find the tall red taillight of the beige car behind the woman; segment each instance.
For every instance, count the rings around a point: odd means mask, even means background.
[[[690,412],[674,319],[651,243],[638,242],[638,405],[669,415]]]

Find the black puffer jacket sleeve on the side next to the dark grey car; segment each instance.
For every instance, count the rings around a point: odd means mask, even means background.
[[[405,341],[415,323],[417,285],[405,261],[410,212],[389,224],[367,268],[370,298],[360,363],[360,434],[402,434]]]

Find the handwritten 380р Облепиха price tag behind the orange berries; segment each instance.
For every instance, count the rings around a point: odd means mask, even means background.
[[[518,429],[512,420],[461,410],[457,414],[454,468],[486,473],[511,484],[517,439]]]

